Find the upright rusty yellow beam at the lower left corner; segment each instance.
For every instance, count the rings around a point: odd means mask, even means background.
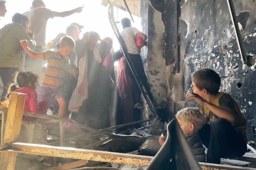
[[[19,141],[25,96],[21,93],[11,93],[3,144]],[[0,167],[4,170],[14,170],[17,153],[8,151],[2,152]]]

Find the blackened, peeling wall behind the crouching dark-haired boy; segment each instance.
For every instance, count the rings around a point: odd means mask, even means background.
[[[221,91],[230,94],[238,102],[249,124],[249,140],[255,140],[256,2],[233,0],[248,55],[248,64],[244,65],[238,51],[226,1],[150,1],[154,9],[163,14],[168,113],[174,116],[184,107],[195,106],[193,101],[185,100],[185,94],[192,91],[191,73],[197,69],[211,68],[222,78]],[[150,31],[151,27],[148,32]],[[177,36],[179,36],[178,43]],[[178,56],[177,49],[180,50]],[[177,64],[180,66],[178,73]]]

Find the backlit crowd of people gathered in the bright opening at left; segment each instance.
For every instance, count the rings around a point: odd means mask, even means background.
[[[0,2],[3,17],[7,10],[5,1]],[[40,103],[35,93],[30,97],[30,91],[23,91],[28,92],[26,100],[33,100],[25,102],[29,106],[24,111],[46,114],[48,108],[57,106],[57,111],[52,110],[59,117],[68,118],[71,113],[72,120],[98,129],[110,126],[111,112],[122,114],[116,124],[132,122],[133,109],[142,108],[141,92],[126,66],[121,48],[114,53],[111,38],[102,40],[96,32],[90,31],[79,39],[84,26],[73,22],[65,34],[59,33],[52,41],[45,42],[49,18],[66,17],[82,10],[83,7],[77,7],[56,12],[47,9],[42,0],[33,0],[29,11],[13,15],[12,22],[0,30],[0,76],[4,86],[1,101],[13,91],[30,88],[35,92],[39,85]],[[128,18],[122,19],[122,26],[121,35],[128,52],[151,94],[139,55],[147,36],[132,27]],[[114,61],[119,59],[125,69],[116,80]],[[45,63],[47,66],[43,67]],[[34,77],[38,77],[37,82]]]

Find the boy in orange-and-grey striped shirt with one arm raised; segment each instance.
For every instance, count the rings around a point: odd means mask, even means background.
[[[22,48],[32,58],[43,58],[48,60],[42,81],[41,99],[48,102],[48,106],[57,100],[59,103],[59,117],[65,117],[66,102],[63,93],[63,80],[66,72],[72,73],[68,55],[75,48],[75,42],[71,37],[64,36],[60,41],[58,51],[45,51],[35,53],[28,48],[28,42],[20,42]]]

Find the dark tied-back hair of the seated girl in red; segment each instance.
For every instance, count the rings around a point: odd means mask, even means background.
[[[6,96],[6,98],[9,98],[10,92],[13,92],[19,88],[29,87],[30,82],[32,84],[35,84],[37,81],[38,81],[38,75],[33,73],[32,71],[27,70],[27,71],[16,72],[13,79],[13,83],[9,85],[8,95]],[[18,82],[18,86],[17,84],[15,84],[15,82]]]

